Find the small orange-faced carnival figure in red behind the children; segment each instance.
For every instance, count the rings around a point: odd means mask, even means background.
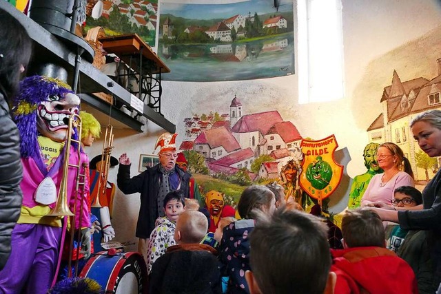
[[[223,194],[218,191],[212,190],[207,192],[205,194],[205,204],[209,211],[209,232],[214,233],[214,231],[216,231],[220,218],[227,216],[234,217],[236,214],[233,207],[225,205]]]

